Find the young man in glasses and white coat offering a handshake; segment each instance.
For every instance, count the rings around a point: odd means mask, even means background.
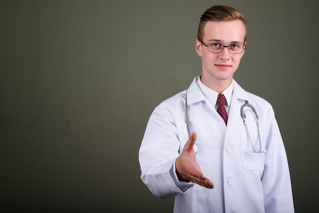
[[[233,80],[246,33],[237,10],[206,10],[196,39],[201,75],[150,116],[141,178],[155,196],[175,196],[174,212],[294,212],[274,111]]]

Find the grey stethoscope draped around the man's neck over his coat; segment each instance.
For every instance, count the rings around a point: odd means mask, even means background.
[[[248,127],[247,127],[247,122],[246,122],[246,115],[245,115],[246,111],[244,111],[245,107],[249,107],[253,111],[253,113],[255,114],[255,120],[256,120],[256,125],[257,125],[257,133],[258,133],[258,140],[259,140],[259,150],[255,149],[255,147],[253,145],[253,142],[251,141],[251,138],[250,138],[250,134],[249,134],[249,130],[248,130]],[[189,138],[190,138],[191,134],[192,134],[192,130],[191,130],[190,118],[189,118],[189,112],[188,111],[189,111],[189,109],[188,109],[188,104],[187,104],[187,92],[186,92],[185,118],[186,118],[187,131],[188,131]],[[246,128],[246,131],[247,131],[247,135],[248,135],[251,147],[253,148],[253,152],[255,152],[255,153],[265,153],[266,150],[261,150],[261,139],[260,139],[260,130],[259,130],[259,122],[258,122],[258,120],[259,120],[258,113],[257,113],[256,109],[254,108],[254,106],[248,102],[248,100],[245,100],[245,103],[241,107],[241,116],[243,118],[243,121],[244,121],[244,124],[245,124],[245,128]],[[195,151],[195,153],[198,152],[198,145],[196,143],[194,144],[194,151]]]

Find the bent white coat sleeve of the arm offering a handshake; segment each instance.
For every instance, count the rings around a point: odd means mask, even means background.
[[[193,182],[177,179],[175,161],[179,156],[180,142],[174,116],[170,104],[162,103],[156,107],[139,151],[141,179],[159,198],[185,193],[194,186]]]

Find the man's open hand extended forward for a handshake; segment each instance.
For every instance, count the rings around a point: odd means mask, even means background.
[[[194,144],[196,142],[196,134],[193,132],[189,140],[186,142],[180,156],[176,159],[176,174],[180,181],[192,181],[208,189],[214,188],[214,184],[204,177],[199,165],[196,162],[196,154]]]

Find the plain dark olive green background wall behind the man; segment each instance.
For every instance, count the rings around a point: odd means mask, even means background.
[[[234,78],[273,105],[296,212],[314,212],[314,2],[1,1],[1,208],[172,212],[173,198],[154,197],[140,179],[140,143],[156,105],[201,73],[195,52],[201,14],[226,4],[248,22]]]

